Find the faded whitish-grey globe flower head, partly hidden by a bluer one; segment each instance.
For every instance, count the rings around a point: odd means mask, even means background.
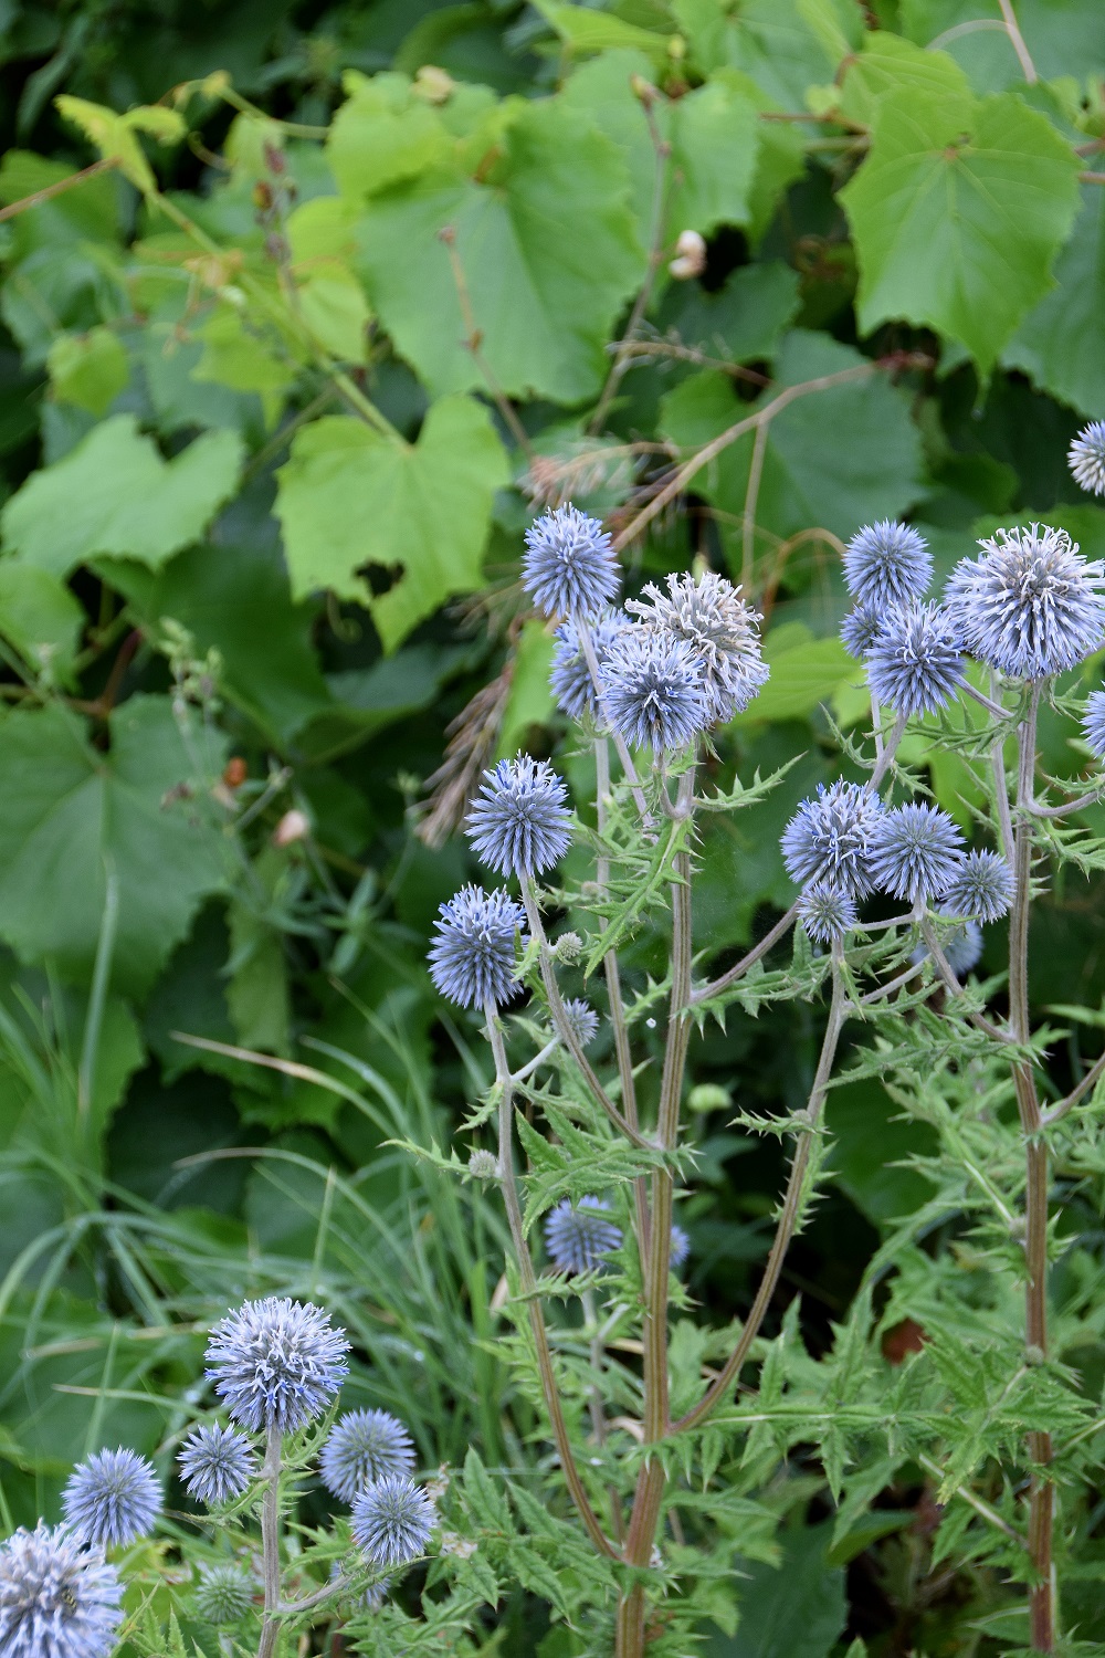
[[[631,599],[626,610],[635,612],[644,627],[691,647],[711,721],[732,720],[765,685],[770,668],[760,657],[760,615],[746,605],[741,589],[724,575],[714,570],[706,570],[697,580],[691,574],[669,575],[666,594],[649,582],[644,599]]]

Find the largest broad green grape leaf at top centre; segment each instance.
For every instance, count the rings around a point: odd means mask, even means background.
[[[368,202],[358,269],[369,302],[436,396],[484,390],[490,371],[509,396],[581,401],[644,272],[626,162],[560,99],[517,108],[485,159],[474,179],[431,172]]]

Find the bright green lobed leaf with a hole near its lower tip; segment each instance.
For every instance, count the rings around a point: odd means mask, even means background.
[[[326,416],[297,433],[277,476],[293,597],[330,587],[366,605],[388,652],[482,584],[492,497],[509,482],[487,410],[467,396],[434,403],[414,444]],[[369,564],[401,575],[374,595],[358,574]]]

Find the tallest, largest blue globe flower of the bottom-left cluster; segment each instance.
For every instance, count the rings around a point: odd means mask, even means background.
[[[345,1330],[313,1302],[268,1295],[222,1318],[207,1343],[207,1374],[235,1423],[295,1434],[321,1416],[350,1373]]]

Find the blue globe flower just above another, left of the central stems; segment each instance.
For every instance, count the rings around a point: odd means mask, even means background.
[[[469,812],[472,849],[500,875],[543,875],[572,846],[568,791],[547,759],[517,754],[484,773]]]

